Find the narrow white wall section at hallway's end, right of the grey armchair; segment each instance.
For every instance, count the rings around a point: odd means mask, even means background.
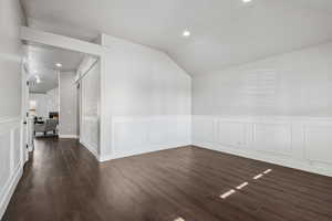
[[[77,90],[75,75],[75,72],[61,72],[59,75],[59,136],[61,138],[77,137]]]

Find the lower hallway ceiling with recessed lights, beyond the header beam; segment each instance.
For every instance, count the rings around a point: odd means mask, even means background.
[[[30,92],[45,93],[58,87],[59,71],[75,71],[82,59],[83,54],[77,52],[37,44],[25,45],[25,67],[29,72]],[[56,67],[56,63],[61,63],[62,67]],[[40,78],[40,83],[37,83],[37,77]]]

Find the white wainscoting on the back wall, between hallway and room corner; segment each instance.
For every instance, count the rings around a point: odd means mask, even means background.
[[[112,155],[102,161],[191,144],[191,116],[113,116]]]

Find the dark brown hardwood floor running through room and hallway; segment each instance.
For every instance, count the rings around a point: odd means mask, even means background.
[[[98,164],[41,138],[2,220],[331,221],[332,178],[197,147]]]

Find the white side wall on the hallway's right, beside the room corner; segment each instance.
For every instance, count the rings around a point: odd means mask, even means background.
[[[84,61],[83,61],[84,62]],[[91,67],[92,63],[85,63]],[[84,66],[81,64],[81,66]],[[89,71],[89,69],[84,69]],[[81,135],[80,141],[96,157],[100,156],[100,62],[81,80]]]

